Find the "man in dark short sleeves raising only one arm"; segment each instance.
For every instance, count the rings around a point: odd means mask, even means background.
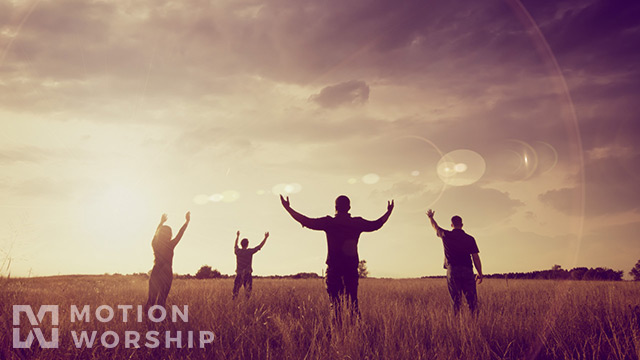
[[[433,218],[435,212],[431,209],[427,211],[427,216],[431,225],[436,230],[438,237],[442,238],[444,245],[444,268],[447,269],[447,287],[453,301],[453,311],[460,310],[461,295],[467,298],[467,304],[471,313],[476,314],[478,309],[478,295],[476,292],[476,280],[482,283],[482,263],[478,253],[478,245],[473,236],[462,230],[462,218],[454,216],[451,218],[453,230],[444,230],[438,226]],[[473,274],[473,265],[476,266],[478,275]]]

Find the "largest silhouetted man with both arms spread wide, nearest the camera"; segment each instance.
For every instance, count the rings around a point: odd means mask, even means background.
[[[340,301],[345,293],[349,297],[353,311],[358,310],[358,239],[362,232],[376,231],[387,222],[393,211],[393,200],[387,203],[387,212],[378,220],[370,221],[361,217],[351,217],[351,202],[344,195],[336,199],[336,215],[322,218],[308,218],[291,208],[289,197],[280,195],[285,210],[297,222],[311,230],[322,230],[327,235],[327,293],[331,299],[336,319],[340,319]]]

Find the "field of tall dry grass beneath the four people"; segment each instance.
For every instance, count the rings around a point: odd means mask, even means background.
[[[148,289],[142,276],[4,279],[0,359],[640,357],[638,282],[488,279],[478,286],[480,312],[474,318],[466,308],[453,314],[445,279],[362,279],[361,317],[345,312],[341,323],[330,316],[321,279],[254,279],[252,296],[247,299],[241,291],[235,301],[232,286],[233,279],[174,280],[167,317],[154,322],[144,313],[141,321],[137,318],[136,308],[144,304]],[[31,325],[22,314],[15,325],[14,305],[30,305],[35,315],[41,305],[58,305],[58,324],[53,326],[45,315]],[[82,310],[85,305],[88,317],[72,322],[71,307]],[[113,309],[109,321],[96,316],[101,305]],[[126,322],[119,305],[132,305]],[[180,311],[188,308],[186,319],[172,319],[173,305]],[[103,308],[102,320],[107,315]],[[48,340],[54,327],[57,348],[41,348],[37,339],[29,348],[13,346],[15,328],[22,340],[34,328]],[[76,346],[72,332],[82,331],[96,333],[92,346]],[[201,331],[215,337],[200,344]],[[156,333],[156,341],[147,341],[148,334]],[[125,343],[127,336],[133,339],[131,334],[140,336],[138,347]]]

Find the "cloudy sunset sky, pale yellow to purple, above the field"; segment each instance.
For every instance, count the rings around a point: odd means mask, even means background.
[[[321,273],[301,228],[375,219],[371,275],[442,274],[461,215],[485,273],[640,259],[640,4],[0,0],[3,275]]]

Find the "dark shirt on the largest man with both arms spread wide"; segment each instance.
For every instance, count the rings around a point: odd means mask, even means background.
[[[376,231],[384,221],[365,220],[351,214],[336,214],[335,217],[308,219],[302,226],[322,230],[327,234],[327,265],[339,269],[358,267],[358,240],[363,232]]]

